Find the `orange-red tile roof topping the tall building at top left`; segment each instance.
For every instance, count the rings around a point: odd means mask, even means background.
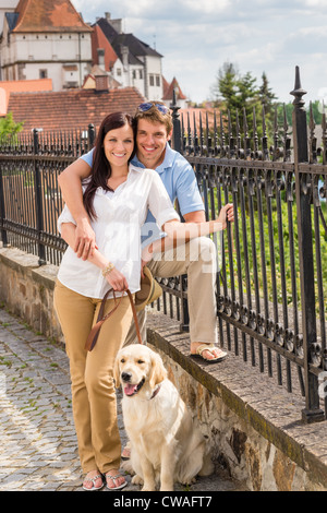
[[[92,32],[70,0],[20,0],[15,33]]]

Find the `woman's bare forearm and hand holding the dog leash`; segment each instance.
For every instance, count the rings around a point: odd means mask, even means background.
[[[72,249],[75,246],[76,231],[77,228],[73,223],[63,223],[61,225],[61,237]],[[94,249],[93,254],[88,255],[87,261],[99,267],[101,271],[110,264],[108,259],[106,259],[106,256],[104,256],[96,248]],[[105,277],[113,290],[122,291],[129,288],[126,278],[116,267],[109,271]]]

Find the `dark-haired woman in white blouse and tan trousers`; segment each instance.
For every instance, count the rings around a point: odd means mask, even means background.
[[[121,444],[112,369],[132,321],[124,290],[135,294],[140,289],[140,230],[148,208],[173,241],[221,229],[220,223],[210,222],[187,224],[185,232],[157,172],[130,164],[134,135],[132,118],[122,112],[107,116],[99,129],[92,175],[83,186],[84,205],[98,244],[87,261],[78,259],[72,249],[76,224],[66,206],[58,220],[69,248],[58,273],[55,307],[70,359],[73,414],[86,490],[100,489],[102,476],[110,490],[126,485],[119,474]],[[104,323],[93,351],[87,353],[87,335],[101,298],[110,288],[116,296],[123,296],[122,301]],[[105,314],[113,305],[111,294]]]

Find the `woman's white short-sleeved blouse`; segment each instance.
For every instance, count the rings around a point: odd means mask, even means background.
[[[141,277],[141,227],[147,211],[154,214],[159,227],[179,219],[159,175],[153,169],[130,165],[126,181],[114,192],[97,189],[94,208],[97,218],[90,224],[100,253],[125,276],[131,293],[136,293]],[[76,224],[66,205],[58,218],[59,231],[63,223]],[[102,298],[110,288],[101,270],[78,259],[70,247],[62,258],[58,279],[71,290],[90,298]]]

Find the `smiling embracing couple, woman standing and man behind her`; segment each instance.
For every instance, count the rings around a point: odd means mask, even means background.
[[[227,220],[233,220],[233,206],[226,205],[217,220],[205,222],[194,171],[170,148],[171,132],[171,115],[161,103],[142,104],[134,119],[122,112],[109,115],[95,148],[59,177],[65,206],[58,224],[69,248],[58,273],[55,307],[70,359],[87,490],[101,488],[102,475],[111,490],[126,485],[118,470],[121,446],[112,369],[123,342],[135,338],[129,297],[123,291],[138,290],[144,264],[155,276],[187,273],[191,354],[216,361],[225,357],[213,344],[217,342],[215,246],[198,235],[223,229]],[[172,206],[175,199],[184,224]],[[148,226],[145,220],[153,220],[150,230],[155,231],[155,219],[167,237],[153,234],[141,249],[141,229]],[[185,238],[190,241],[183,244]],[[109,288],[123,295],[122,301],[104,324],[94,350],[87,353],[86,337]],[[109,296],[105,314],[113,303]],[[144,313],[141,324],[145,325]]]

